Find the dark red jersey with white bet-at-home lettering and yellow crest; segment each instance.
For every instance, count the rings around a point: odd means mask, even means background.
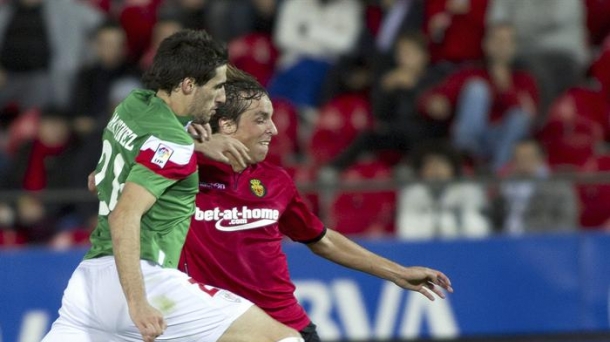
[[[322,222],[280,167],[262,162],[241,173],[199,158],[199,194],[180,269],[239,294],[297,330],[309,324],[290,280],[283,236],[313,242]]]

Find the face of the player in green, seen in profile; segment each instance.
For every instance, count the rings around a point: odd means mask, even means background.
[[[197,87],[190,106],[190,113],[197,123],[208,123],[216,112],[216,108],[225,103],[225,82],[227,81],[227,66],[216,68],[216,76],[206,84]]]

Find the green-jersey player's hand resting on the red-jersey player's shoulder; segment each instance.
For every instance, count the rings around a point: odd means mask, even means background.
[[[241,141],[224,134],[212,134],[209,141],[195,142],[195,151],[203,153],[206,157],[229,164],[237,164],[242,169],[248,167],[250,155],[246,145]]]

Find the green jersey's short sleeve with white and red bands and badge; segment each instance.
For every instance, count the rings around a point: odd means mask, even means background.
[[[150,136],[136,155],[128,182],[139,184],[155,197],[197,170],[194,145],[181,145]]]

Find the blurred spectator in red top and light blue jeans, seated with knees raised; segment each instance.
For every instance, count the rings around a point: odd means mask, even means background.
[[[420,99],[429,117],[448,122],[453,115],[454,145],[494,171],[511,157],[513,146],[528,135],[536,114],[534,78],[513,65],[516,42],[509,24],[488,28],[483,43],[486,63],[464,67]]]

